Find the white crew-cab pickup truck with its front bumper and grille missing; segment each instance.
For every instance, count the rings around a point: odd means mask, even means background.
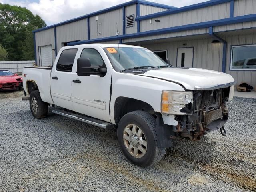
[[[228,74],[175,68],[146,48],[118,44],[62,47],[52,67],[25,67],[23,85],[35,118],[52,105],[55,114],[117,128],[122,152],[139,166],[156,164],[174,139],[224,135],[234,95]]]

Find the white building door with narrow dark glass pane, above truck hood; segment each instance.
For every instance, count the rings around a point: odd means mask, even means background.
[[[177,67],[193,67],[194,48],[178,48]]]

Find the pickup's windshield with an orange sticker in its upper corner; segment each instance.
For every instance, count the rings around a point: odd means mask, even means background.
[[[134,68],[171,67],[164,60],[146,48],[109,47],[104,48],[110,62],[118,71]]]

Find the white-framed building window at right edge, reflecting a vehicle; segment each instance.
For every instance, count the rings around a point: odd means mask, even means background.
[[[256,70],[256,45],[232,46],[230,69]]]

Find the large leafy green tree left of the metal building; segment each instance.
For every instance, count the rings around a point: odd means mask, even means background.
[[[32,31],[45,26],[30,10],[0,3],[0,44],[8,51],[8,60],[34,60]]]

